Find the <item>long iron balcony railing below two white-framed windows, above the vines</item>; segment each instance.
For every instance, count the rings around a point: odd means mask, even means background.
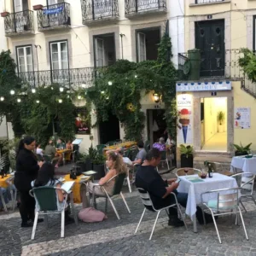
[[[56,69],[17,73],[23,84],[31,87],[50,86],[60,84],[62,87],[78,89],[89,88],[99,76],[95,67]]]

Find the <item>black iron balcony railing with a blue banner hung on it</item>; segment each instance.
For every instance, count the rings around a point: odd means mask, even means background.
[[[70,25],[70,4],[56,3],[38,10],[38,30]]]

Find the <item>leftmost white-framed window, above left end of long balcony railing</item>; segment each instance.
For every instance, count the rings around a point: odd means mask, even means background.
[[[33,71],[33,59],[32,59],[32,46],[21,46],[17,48],[18,58],[18,71],[32,72]]]

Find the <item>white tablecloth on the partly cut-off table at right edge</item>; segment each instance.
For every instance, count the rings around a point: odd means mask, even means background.
[[[256,174],[256,157],[245,158],[244,156],[235,156],[232,158],[231,166],[241,169],[242,172]]]

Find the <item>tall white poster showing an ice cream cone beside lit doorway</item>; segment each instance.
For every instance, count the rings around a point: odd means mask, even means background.
[[[192,96],[177,97],[177,143],[193,144]]]

